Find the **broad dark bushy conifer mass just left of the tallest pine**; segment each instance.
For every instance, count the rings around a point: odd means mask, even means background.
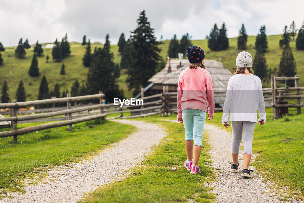
[[[109,47],[110,48],[110,47]],[[114,97],[123,98],[122,91],[115,82],[113,75],[113,54],[108,49],[99,48],[93,54],[93,60],[88,70],[88,93],[96,94],[98,91],[105,93],[105,99],[113,102]]]

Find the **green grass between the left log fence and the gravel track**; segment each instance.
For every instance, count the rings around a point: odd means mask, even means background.
[[[32,125],[18,124],[18,128]],[[34,180],[34,176],[43,176],[54,166],[80,162],[135,130],[131,125],[99,119],[74,124],[73,132],[66,128],[19,135],[17,143],[12,142],[12,137],[0,138],[0,196],[8,191],[22,191],[24,178]],[[20,188],[13,187],[17,185]]]

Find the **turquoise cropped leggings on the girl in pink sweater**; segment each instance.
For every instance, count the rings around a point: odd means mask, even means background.
[[[206,112],[199,109],[181,111],[185,127],[185,140],[193,140],[193,145],[202,146]]]

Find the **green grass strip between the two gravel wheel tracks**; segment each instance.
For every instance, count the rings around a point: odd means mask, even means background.
[[[203,187],[212,177],[212,170],[207,166],[209,144],[206,134],[203,135],[203,147],[199,166],[201,173],[190,174],[183,166],[186,157],[184,145],[184,126],[179,123],[160,121],[159,115],[147,117],[148,122],[162,125],[168,136],[154,147],[134,173],[123,179],[100,187],[88,194],[83,202],[187,202],[197,195],[195,201],[212,202],[214,195],[209,188]],[[172,171],[177,167],[177,171]],[[82,201],[81,201],[82,202]]]

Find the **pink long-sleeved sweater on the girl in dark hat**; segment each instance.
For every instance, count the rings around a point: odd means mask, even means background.
[[[213,116],[214,95],[210,73],[204,68],[183,70],[178,77],[177,117],[181,118],[184,109],[199,109]]]

